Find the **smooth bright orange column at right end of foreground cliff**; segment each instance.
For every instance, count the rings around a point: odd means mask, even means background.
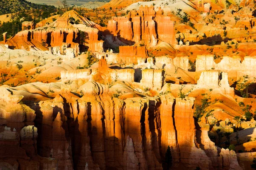
[[[206,153],[195,146],[195,122],[192,109],[194,100],[195,98],[192,97],[176,98],[174,119],[180,162],[186,166],[197,164],[201,169],[209,169],[209,158]]]

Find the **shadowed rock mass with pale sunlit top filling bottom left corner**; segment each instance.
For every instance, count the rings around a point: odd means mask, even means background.
[[[35,111],[20,104],[23,96],[0,88],[0,168],[56,170],[57,161],[37,154]]]

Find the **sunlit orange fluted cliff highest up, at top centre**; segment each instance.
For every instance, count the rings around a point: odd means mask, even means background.
[[[161,8],[156,12],[154,6],[141,6],[139,10],[131,11],[128,16],[113,17],[108,21],[108,31],[129,45],[141,42],[155,46],[159,40],[176,44],[174,22],[163,15]]]

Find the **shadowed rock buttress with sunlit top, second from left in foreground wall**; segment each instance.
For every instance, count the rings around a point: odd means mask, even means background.
[[[73,169],[72,155],[69,151],[69,142],[66,139],[65,130],[67,119],[63,110],[63,99],[57,96],[52,102],[39,102],[35,110],[41,108],[41,115],[37,115],[38,123],[38,155],[58,159],[58,168]],[[39,124],[40,122],[40,124]]]

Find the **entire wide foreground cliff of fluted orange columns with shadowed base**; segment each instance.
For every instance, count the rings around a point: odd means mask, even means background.
[[[1,90],[7,101],[22,99]],[[54,99],[28,104],[30,108],[18,103],[7,105],[8,110],[1,105],[5,122],[0,122],[0,142],[8,149],[1,150],[0,164],[47,170],[161,170],[170,146],[176,168],[212,169],[214,162],[196,145],[194,98],[169,94],[121,100],[108,95],[107,85],[96,82],[87,82],[82,91],[86,95],[81,98],[63,91]],[[21,116],[24,110],[16,106],[26,108],[26,119]],[[17,118],[7,116],[10,111]],[[216,165],[219,169],[230,167],[236,154],[225,150],[222,158],[223,163]],[[239,169],[239,165],[232,167]]]

